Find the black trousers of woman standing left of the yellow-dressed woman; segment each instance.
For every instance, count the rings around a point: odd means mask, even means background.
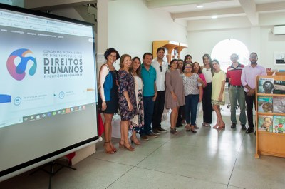
[[[203,91],[202,107],[203,107],[203,122],[212,123],[212,83],[207,83]]]

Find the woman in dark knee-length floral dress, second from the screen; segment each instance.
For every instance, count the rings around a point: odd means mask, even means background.
[[[135,100],[135,80],[129,73],[131,64],[131,57],[124,54],[120,58],[119,76],[119,108],[120,108],[120,148],[127,148],[130,151],[135,148],[130,145],[128,141],[128,130],[130,126],[130,119],[132,119],[137,112],[137,102]]]

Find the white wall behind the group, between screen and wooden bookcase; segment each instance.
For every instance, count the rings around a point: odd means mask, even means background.
[[[108,46],[120,54],[142,58],[143,53],[152,53],[152,41],[157,40],[187,44],[187,23],[173,21],[166,11],[148,9],[143,0],[109,1],[108,7]]]

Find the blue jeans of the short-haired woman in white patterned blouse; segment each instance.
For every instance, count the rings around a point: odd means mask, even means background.
[[[187,95],[185,96],[185,119],[186,123],[190,123],[194,126],[196,123],[197,106],[199,102],[199,94],[197,95]]]

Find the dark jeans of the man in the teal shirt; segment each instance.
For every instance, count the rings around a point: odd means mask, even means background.
[[[151,121],[152,114],[155,102],[152,101],[153,96],[144,96],[143,97],[143,113],[144,113],[144,121],[145,125],[140,128],[140,136],[145,136],[150,134],[151,131]]]

